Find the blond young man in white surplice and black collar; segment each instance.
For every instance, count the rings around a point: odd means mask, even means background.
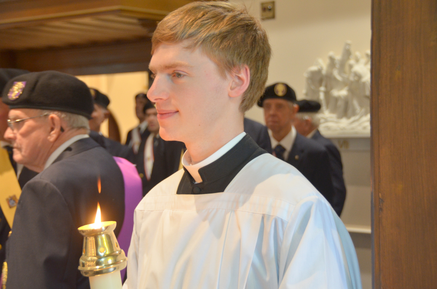
[[[327,201],[243,132],[270,53],[258,20],[228,2],[190,3],[158,24],[148,97],[160,136],[187,151],[135,209],[129,289],[360,287]]]

